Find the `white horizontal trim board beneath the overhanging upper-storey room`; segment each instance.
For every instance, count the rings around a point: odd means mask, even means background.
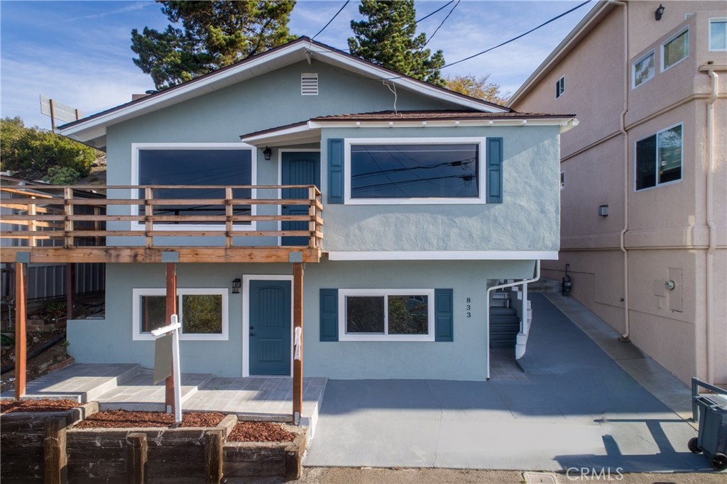
[[[329,251],[329,260],[557,260],[558,251]]]

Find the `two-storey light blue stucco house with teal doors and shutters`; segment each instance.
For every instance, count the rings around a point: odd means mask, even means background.
[[[153,244],[192,261],[177,268],[182,371],[290,375],[292,265],[305,262],[305,376],[484,380],[487,289],[558,257],[559,137],[575,122],[301,38],[60,132],[106,150],[108,183],[123,187],[109,198],[148,199],[134,187],[164,185],[155,198],[193,199],[110,205],[118,217],[106,227],[108,254]],[[152,213],[166,217],[153,236],[142,217]],[[257,257],[287,246],[307,249]],[[153,366],[165,272],[139,260],[108,263],[104,320],[68,322],[77,362]]]

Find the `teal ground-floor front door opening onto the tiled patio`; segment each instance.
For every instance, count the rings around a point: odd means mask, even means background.
[[[290,281],[250,281],[251,375],[290,376]]]

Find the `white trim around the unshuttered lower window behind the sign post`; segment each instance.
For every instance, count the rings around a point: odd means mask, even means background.
[[[222,334],[184,334],[180,332],[181,341],[227,341],[229,336],[229,296],[226,288],[177,288],[177,310],[180,321],[182,320],[182,296],[185,294],[214,294],[222,296]],[[153,341],[156,337],[151,333],[141,331],[141,297],[142,296],[165,296],[166,289],[159,288],[134,288],[132,290],[132,340]]]

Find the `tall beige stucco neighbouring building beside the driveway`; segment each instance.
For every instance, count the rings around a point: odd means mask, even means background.
[[[684,382],[727,383],[726,23],[725,1],[601,1],[509,102],[580,121],[544,277],[569,264],[571,295]]]

